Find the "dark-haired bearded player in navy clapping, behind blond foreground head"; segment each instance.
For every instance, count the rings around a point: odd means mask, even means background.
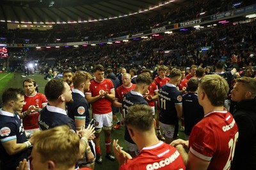
[[[44,93],[48,99],[48,104],[38,117],[40,129],[44,131],[59,125],[68,125],[73,132],[76,132],[76,124],[72,118],[67,117],[65,110],[66,104],[73,102],[68,83],[60,78],[52,79],[45,85]],[[84,154],[84,152],[91,150],[88,139],[93,139],[92,135],[95,131],[91,125],[88,125],[86,129],[81,129],[81,131],[86,131],[86,134],[80,140],[80,151]]]

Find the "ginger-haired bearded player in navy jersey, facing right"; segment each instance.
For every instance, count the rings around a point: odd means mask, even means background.
[[[90,124],[90,111],[88,102],[84,98],[84,93],[88,92],[91,79],[91,74],[87,73],[86,71],[76,71],[72,78],[74,85],[74,89],[72,89],[72,98],[74,101],[67,104],[67,110],[68,117],[74,120],[77,131],[83,129],[84,126],[88,127]],[[91,140],[88,141],[88,143],[92,150],[90,150],[90,152],[86,152],[86,157],[83,160],[79,160],[79,164],[83,164],[83,166],[93,169],[95,159],[95,154],[93,155],[93,148],[95,148],[95,145]]]

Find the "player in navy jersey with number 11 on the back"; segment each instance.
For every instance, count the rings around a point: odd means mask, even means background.
[[[182,117],[182,96],[177,85],[180,82],[180,70],[170,71],[170,81],[160,87],[158,104],[160,106],[160,126],[164,131],[165,142],[170,144],[178,136],[179,118]]]

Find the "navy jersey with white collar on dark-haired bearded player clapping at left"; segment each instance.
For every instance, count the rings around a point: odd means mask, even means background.
[[[76,132],[76,124],[72,118],[67,116],[66,111],[49,104],[41,111],[38,125],[42,131],[59,125],[69,125]]]

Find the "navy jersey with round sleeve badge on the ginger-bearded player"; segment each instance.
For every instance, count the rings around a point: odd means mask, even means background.
[[[68,117],[85,120],[85,128],[90,124],[90,111],[87,100],[84,98],[83,92],[72,89],[73,102],[67,104]]]

